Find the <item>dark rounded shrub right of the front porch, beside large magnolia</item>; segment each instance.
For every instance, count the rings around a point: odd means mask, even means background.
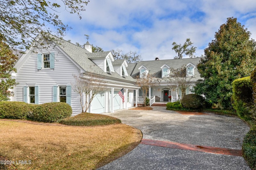
[[[189,109],[202,108],[204,102],[204,97],[197,94],[187,94],[181,100],[182,106]]]

